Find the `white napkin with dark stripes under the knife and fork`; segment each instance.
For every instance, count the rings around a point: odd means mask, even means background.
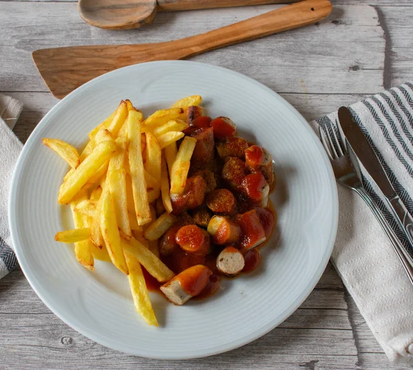
[[[413,84],[351,105],[401,201],[413,214]],[[336,125],[337,112],[310,125]],[[318,130],[316,131],[318,135]],[[413,250],[363,169],[363,185],[410,254]],[[388,358],[413,364],[413,286],[376,218],[359,195],[338,185],[339,227],[331,260]]]

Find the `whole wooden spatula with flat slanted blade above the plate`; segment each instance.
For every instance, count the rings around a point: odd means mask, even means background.
[[[298,28],[324,19],[332,9],[328,0],[306,0],[246,19],[218,30],[165,43],[69,46],[36,50],[34,63],[56,98],[63,98],[100,74],[147,61],[188,56]]]

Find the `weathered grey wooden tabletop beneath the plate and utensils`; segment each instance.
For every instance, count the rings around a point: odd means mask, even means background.
[[[195,56],[265,83],[306,119],[413,79],[411,0],[336,0],[328,19]],[[38,48],[168,41],[276,6],[158,14],[140,30],[92,28],[74,0],[0,0],[0,93],[23,101],[14,129],[25,141],[58,101],[30,53]],[[286,123],[287,124],[287,123]],[[328,265],[295,314],[266,336],[219,356],[158,361],[85,338],[54,316],[20,270],[0,280],[0,369],[404,369],[392,367],[337,273]]]

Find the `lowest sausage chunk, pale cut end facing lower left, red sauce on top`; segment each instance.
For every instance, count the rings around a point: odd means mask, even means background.
[[[165,296],[175,305],[183,305],[193,296],[198,296],[209,282],[212,271],[204,265],[195,265],[160,287]]]

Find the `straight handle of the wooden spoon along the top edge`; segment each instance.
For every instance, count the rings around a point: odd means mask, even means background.
[[[294,3],[299,0],[290,0]],[[286,0],[158,0],[158,11],[176,12],[177,10],[229,8],[231,6],[253,6],[285,3]]]

